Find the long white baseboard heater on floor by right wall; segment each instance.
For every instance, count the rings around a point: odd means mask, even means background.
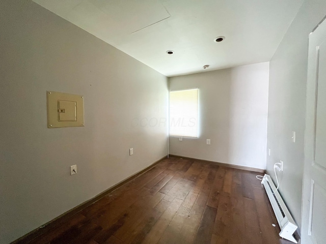
[[[297,229],[297,225],[295,224],[281,195],[276,190],[276,187],[268,174],[264,175],[263,179],[261,180],[261,184],[264,185],[270,204],[273,207],[277,222],[279,223],[281,229],[279,235],[284,239],[297,243],[297,237],[294,237],[293,235]]]

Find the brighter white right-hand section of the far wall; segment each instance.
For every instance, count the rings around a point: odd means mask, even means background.
[[[231,69],[229,160],[266,169],[269,63]]]

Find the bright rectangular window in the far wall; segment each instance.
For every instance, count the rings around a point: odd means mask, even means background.
[[[198,88],[170,92],[170,135],[198,137]]]

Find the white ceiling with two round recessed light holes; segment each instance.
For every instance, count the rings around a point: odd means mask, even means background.
[[[269,61],[302,0],[33,0],[166,76]],[[223,42],[214,38],[225,36]],[[167,50],[173,50],[169,55]]]

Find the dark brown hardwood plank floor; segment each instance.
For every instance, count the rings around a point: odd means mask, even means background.
[[[165,159],[29,243],[281,243],[257,174]]]

